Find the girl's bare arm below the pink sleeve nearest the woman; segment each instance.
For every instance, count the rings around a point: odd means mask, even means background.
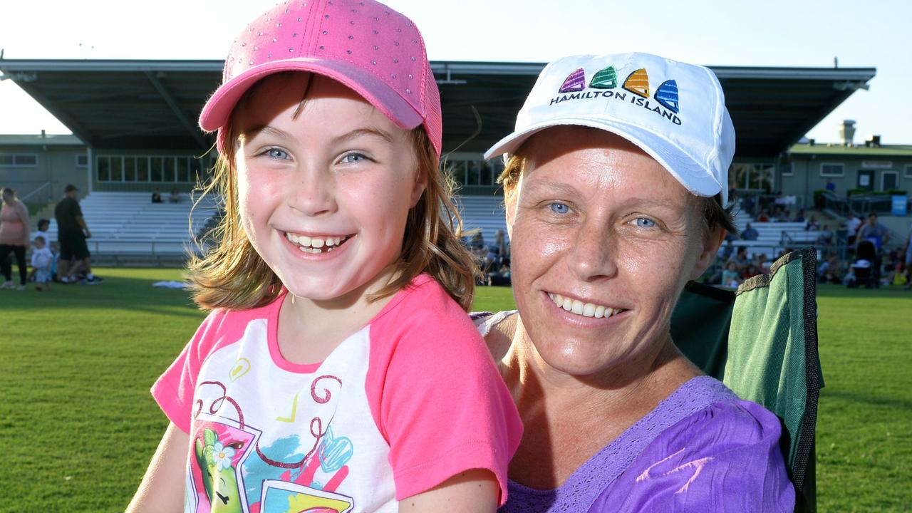
[[[474,468],[426,492],[400,500],[399,513],[493,513],[500,502],[500,489],[490,470]]]

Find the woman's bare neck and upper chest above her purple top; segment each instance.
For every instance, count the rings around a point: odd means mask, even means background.
[[[573,376],[549,366],[522,319],[512,319],[513,325],[504,326],[512,331],[512,341],[499,364],[525,428],[509,474],[527,487],[561,486],[683,382],[700,375],[669,337],[636,368],[626,363],[595,376]]]

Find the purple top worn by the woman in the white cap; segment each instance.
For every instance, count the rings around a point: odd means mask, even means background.
[[[792,511],[779,419],[699,376],[592,456],[564,485],[510,481],[501,513]]]

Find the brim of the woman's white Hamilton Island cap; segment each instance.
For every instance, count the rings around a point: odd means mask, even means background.
[[[516,152],[523,142],[535,133],[555,126],[584,126],[604,130],[627,141],[633,142],[637,147],[662,164],[668,173],[671,173],[679,183],[684,185],[691,193],[700,196],[714,196],[722,194],[723,199],[728,191],[723,190],[721,184],[712,178],[699,162],[693,160],[687,152],[681,150],[673,141],[658,137],[650,131],[638,129],[627,123],[607,122],[604,119],[587,118],[581,116],[554,118],[514,131],[510,135],[497,141],[490,150],[484,152],[484,158],[491,159],[498,155],[510,155]]]

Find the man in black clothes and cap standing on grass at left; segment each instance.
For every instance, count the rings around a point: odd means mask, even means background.
[[[82,217],[82,209],[76,199],[78,189],[72,183],[64,188],[64,198],[54,208],[54,217],[57,218],[57,243],[60,245],[60,259],[57,263],[57,275],[60,283],[75,283],[78,277],[74,268],[70,267],[70,260],[76,259],[82,264],[80,267],[86,273],[88,284],[95,284],[101,278],[92,274],[92,260],[88,253],[86,239],[92,236],[88,231],[86,220]]]

